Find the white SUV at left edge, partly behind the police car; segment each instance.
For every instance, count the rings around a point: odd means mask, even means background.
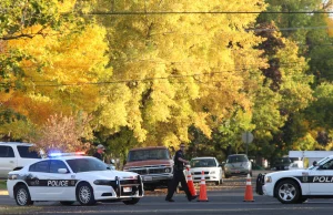
[[[8,177],[10,171],[17,171],[24,165],[41,158],[29,143],[0,142],[0,180]]]

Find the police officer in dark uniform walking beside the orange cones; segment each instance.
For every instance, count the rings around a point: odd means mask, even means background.
[[[195,199],[196,196],[192,196],[190,191],[189,191],[189,186],[185,180],[185,175],[184,175],[184,164],[189,164],[190,162],[184,160],[184,150],[185,150],[185,145],[182,143],[180,144],[180,150],[175,152],[175,155],[173,157],[174,161],[174,167],[173,167],[173,178],[171,181],[171,183],[168,186],[168,195],[165,197],[167,202],[174,202],[174,199],[172,199],[173,193],[176,190],[176,186],[179,184],[179,182],[181,182],[182,184],[182,188],[184,190],[188,199],[192,201]]]

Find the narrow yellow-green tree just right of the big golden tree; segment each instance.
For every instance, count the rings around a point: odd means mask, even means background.
[[[261,154],[265,156],[282,156],[304,135],[291,132],[290,122],[312,101],[312,76],[305,73],[306,61],[299,55],[295,42],[282,38],[273,22],[261,23],[258,29],[259,35],[268,38],[258,48],[264,50],[270,66],[263,70],[265,79],[255,96],[256,150],[264,150]],[[272,145],[280,151],[272,151]]]

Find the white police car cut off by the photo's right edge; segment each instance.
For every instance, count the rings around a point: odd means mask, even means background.
[[[281,203],[303,203],[307,198],[333,198],[333,155],[306,170],[259,175],[256,193],[273,196]]]

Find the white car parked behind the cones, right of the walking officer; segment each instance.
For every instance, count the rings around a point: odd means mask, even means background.
[[[215,157],[195,157],[191,160],[191,174],[193,182],[200,182],[204,172],[205,182],[214,182],[215,185],[223,183],[223,171]]]

